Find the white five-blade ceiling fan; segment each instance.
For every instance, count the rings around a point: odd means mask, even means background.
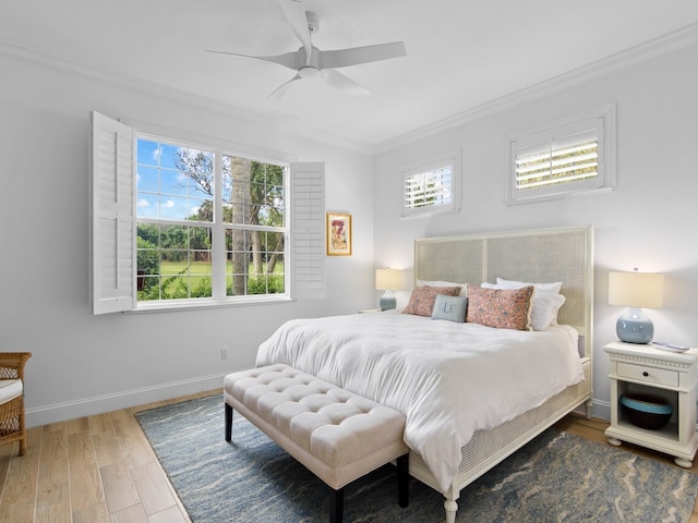
[[[333,87],[352,95],[366,95],[369,94],[369,89],[336,71],[336,69],[377,62],[407,54],[402,41],[332,51],[317,49],[312,42],[312,35],[320,31],[317,15],[310,11],[305,12],[302,0],[279,0],[279,3],[293,33],[302,44],[297,51],[268,57],[255,57],[238,52],[208,50],[208,52],[231,54],[233,57],[265,60],[296,71],[296,76],[281,84],[268,98],[280,99],[293,82],[310,78],[324,80]]]

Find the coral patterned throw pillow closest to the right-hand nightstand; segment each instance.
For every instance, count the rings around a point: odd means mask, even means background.
[[[468,288],[466,321],[497,329],[531,330],[532,287],[520,289]]]

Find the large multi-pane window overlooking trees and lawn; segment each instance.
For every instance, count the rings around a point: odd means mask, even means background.
[[[139,137],[139,302],[285,293],[285,178],[280,165]]]

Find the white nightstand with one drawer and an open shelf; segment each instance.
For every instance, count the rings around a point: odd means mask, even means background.
[[[677,465],[689,469],[698,449],[698,350],[677,353],[621,342],[609,343],[603,350],[611,358],[611,426],[605,431],[609,443],[619,446],[627,441],[665,452],[675,457]],[[659,430],[633,425],[619,405],[626,393],[648,393],[669,400],[673,411],[670,422]]]

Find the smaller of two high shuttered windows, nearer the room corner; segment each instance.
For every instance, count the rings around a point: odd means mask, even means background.
[[[402,167],[402,216],[460,208],[460,150]]]

